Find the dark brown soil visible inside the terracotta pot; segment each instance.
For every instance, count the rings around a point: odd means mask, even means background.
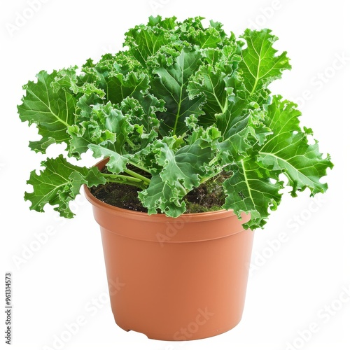
[[[104,171],[106,170],[104,169]],[[222,209],[225,203],[225,193],[222,184],[227,178],[227,173],[219,174],[215,178],[202,183],[198,188],[190,191],[184,197],[187,208],[186,214]],[[147,212],[147,209],[142,206],[137,197],[139,192],[139,188],[137,187],[123,183],[106,183],[105,185],[92,187],[90,190],[94,197],[107,204],[123,209]]]

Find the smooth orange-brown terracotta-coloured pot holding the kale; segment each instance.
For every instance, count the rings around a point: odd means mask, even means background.
[[[106,160],[99,163],[102,169]],[[253,232],[232,211],[168,218],[113,207],[85,187],[101,226],[111,307],[124,330],[202,339],[241,320]]]

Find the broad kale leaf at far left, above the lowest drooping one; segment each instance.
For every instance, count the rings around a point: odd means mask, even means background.
[[[40,141],[31,142],[29,147],[45,153],[50,144],[69,144],[70,137],[66,131],[76,121],[76,99],[66,90],[53,90],[51,83],[55,81],[57,71],[51,74],[41,71],[37,77],[37,83],[29,81],[24,86],[27,93],[18,106],[18,113],[22,122],[35,123],[42,137]]]

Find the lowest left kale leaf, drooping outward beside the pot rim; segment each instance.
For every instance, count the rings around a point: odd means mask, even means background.
[[[34,170],[27,181],[34,191],[25,193],[25,200],[31,202],[30,209],[36,211],[44,211],[45,204],[50,204],[57,206],[55,210],[61,216],[72,218],[74,214],[69,209],[69,202],[79,194],[80,186],[85,184],[91,187],[106,183],[97,167],[87,169],[71,165],[62,155],[55,159],[48,158],[41,165],[45,169],[40,174]]]

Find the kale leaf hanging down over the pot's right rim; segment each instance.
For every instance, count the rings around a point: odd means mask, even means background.
[[[281,202],[279,190],[283,183],[273,183],[254,158],[237,162],[233,176],[223,186],[227,194],[223,207],[233,209],[239,218],[242,211],[251,214],[251,220],[245,227],[252,230],[265,225],[269,210],[275,210]]]

